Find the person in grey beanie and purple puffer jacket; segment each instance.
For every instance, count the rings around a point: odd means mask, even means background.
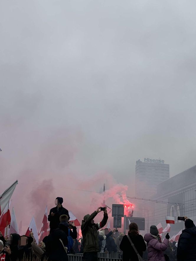
[[[144,236],[148,247],[148,261],[165,261],[164,251],[169,245],[169,234],[167,233],[163,242],[159,236],[156,226],[151,226],[150,233]]]

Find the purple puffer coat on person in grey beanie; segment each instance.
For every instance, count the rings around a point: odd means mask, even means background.
[[[162,243],[158,239],[148,233],[144,236],[144,240],[147,242],[148,247],[148,261],[165,261],[164,252],[168,245],[169,240],[164,239]]]

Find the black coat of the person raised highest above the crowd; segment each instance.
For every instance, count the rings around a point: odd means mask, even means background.
[[[52,212],[55,213],[54,216],[51,216]],[[53,229],[58,228],[58,225],[60,224],[59,218],[61,215],[67,215],[68,219],[70,219],[69,211],[63,208],[63,206],[61,206],[61,208],[56,206],[55,208],[50,209],[50,213],[48,215],[48,221],[50,221],[50,233],[53,231]]]

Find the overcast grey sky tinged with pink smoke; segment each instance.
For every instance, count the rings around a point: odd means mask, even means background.
[[[1,1],[1,192],[109,173],[134,196],[136,160],[196,165],[195,17],[195,1]]]

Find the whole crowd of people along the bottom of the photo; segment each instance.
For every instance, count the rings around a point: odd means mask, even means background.
[[[86,214],[81,224],[82,238],[77,239],[76,226],[69,222],[68,210],[62,206],[63,198],[57,197],[56,206],[50,210],[50,234],[36,243],[33,233],[29,236],[10,234],[5,239],[0,232],[0,261],[68,261],[68,254],[83,253],[84,261],[98,261],[98,253],[117,252],[123,261],[188,261],[196,260],[196,227],[185,217],[185,229],[177,242],[169,242],[169,233],[162,241],[156,226],[142,237],[135,223],[129,225],[127,235],[117,230],[103,229],[108,220],[107,209],[99,207]],[[99,223],[94,218],[103,211]],[[143,259],[142,259],[143,258]]]

